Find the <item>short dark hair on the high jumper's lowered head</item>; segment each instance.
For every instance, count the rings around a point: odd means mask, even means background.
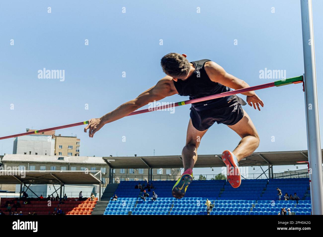
[[[185,78],[190,73],[191,64],[182,54],[169,53],[162,57],[161,67],[171,77]]]

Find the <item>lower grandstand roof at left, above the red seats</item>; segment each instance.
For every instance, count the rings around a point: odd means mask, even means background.
[[[0,170],[1,184],[95,184],[100,179],[89,171],[13,171]],[[92,171],[91,171],[92,172]]]

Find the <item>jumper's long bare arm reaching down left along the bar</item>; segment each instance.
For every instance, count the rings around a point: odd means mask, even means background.
[[[138,95],[137,98],[121,104],[101,118],[90,119],[89,124],[84,128],[84,132],[86,133],[89,129],[89,137],[93,137],[94,133],[98,132],[104,124],[123,118],[150,102],[161,100],[173,94],[177,94],[177,91],[172,82],[172,77],[165,76],[156,85]]]

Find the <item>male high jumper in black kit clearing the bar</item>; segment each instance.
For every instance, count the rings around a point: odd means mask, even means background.
[[[89,137],[93,137],[106,123],[125,117],[131,112],[149,104],[161,100],[167,96],[179,94],[190,96],[190,99],[207,95],[219,94],[249,87],[243,80],[228,74],[224,69],[207,59],[189,62],[185,54],[170,53],[162,57],[161,66],[165,74],[155,86],[141,93],[136,99],[120,105],[115,110],[102,116],[89,120],[84,132],[89,129]],[[259,104],[264,107],[261,99],[254,91],[242,93],[247,96],[247,102],[260,110]],[[237,188],[241,184],[241,176],[238,162],[252,154],[259,145],[259,136],[248,114],[242,109],[245,101],[237,95],[226,96],[213,100],[192,104],[191,119],[188,123],[186,145],[182,150],[184,172],[175,183],[172,195],[182,198],[188,185],[193,180],[193,167],[197,160],[197,148],[200,140],[209,127],[215,122],[223,123],[234,130],[242,139],[238,146],[231,152],[225,150],[222,160],[227,166],[227,179],[232,187]]]

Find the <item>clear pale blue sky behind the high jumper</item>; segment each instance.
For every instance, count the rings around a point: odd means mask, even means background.
[[[323,2],[313,0],[320,109],[322,11]],[[160,59],[170,52],[185,53],[190,61],[215,61],[249,85],[275,81],[259,79],[259,70],[265,68],[286,70],[287,77],[304,73],[298,0],[1,1],[0,24],[0,136],[100,117],[162,78]],[[89,45],[84,44],[86,39]],[[65,81],[38,79],[37,71],[44,67],[65,70]],[[302,85],[269,88],[258,95],[265,104],[260,112],[244,106],[260,135],[256,151],[306,150]],[[186,99],[174,95],[163,101]],[[181,154],[189,108],[126,117],[105,125],[92,139],[84,126],[56,133],[77,134],[84,156],[147,156],[154,149],[155,155]],[[322,124],[322,113],[320,120]],[[13,140],[0,141],[2,154],[12,153]],[[203,137],[199,154],[233,150],[239,140],[225,125],[214,124]]]

